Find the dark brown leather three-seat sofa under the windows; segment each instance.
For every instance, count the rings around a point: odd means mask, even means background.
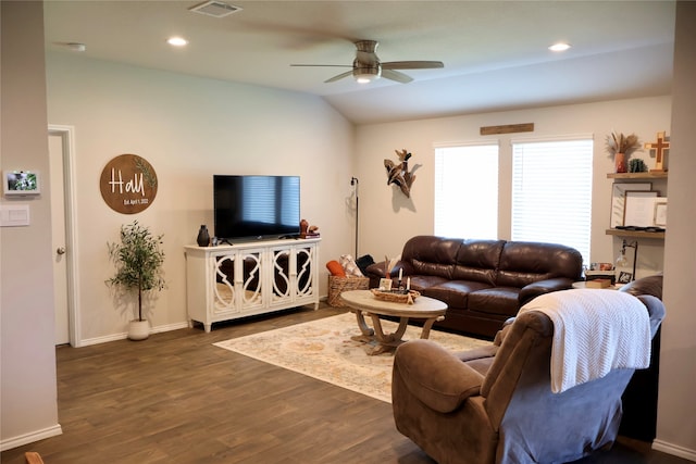
[[[402,269],[411,289],[447,303],[436,328],[493,338],[525,302],[581,280],[582,264],[580,252],[562,244],[417,236],[390,278]],[[370,287],[378,287],[385,263],[366,272]]]

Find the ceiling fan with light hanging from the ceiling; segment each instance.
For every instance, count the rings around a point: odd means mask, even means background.
[[[369,83],[380,77],[407,84],[413,80],[411,76],[396,70],[432,70],[445,67],[442,61],[389,61],[382,63],[375,53],[378,42],[376,40],[358,40],[356,42],[356,59],[349,64],[290,64],[290,66],[331,66],[352,67],[352,70],[338,74],[324,83],[335,83],[344,77],[353,76],[359,83]]]

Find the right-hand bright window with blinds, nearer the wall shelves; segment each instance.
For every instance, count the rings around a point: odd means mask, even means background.
[[[575,248],[589,262],[593,139],[512,143],[512,240]]]

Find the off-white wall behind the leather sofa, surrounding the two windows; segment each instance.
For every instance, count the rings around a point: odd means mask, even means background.
[[[535,110],[474,114],[435,120],[359,126],[357,129],[358,173],[360,176],[361,252],[375,261],[385,254],[394,256],[403,242],[418,234],[433,234],[434,145],[446,142],[495,141],[500,145],[500,215],[499,238],[509,239],[511,139],[591,134],[595,138],[593,180],[592,261],[613,262],[620,239],[607,236],[609,228],[613,161],[605,150],[605,138],[617,129],[636,133],[641,141],[654,141],[657,131],[670,129],[670,97],[620,100],[600,103],[552,106]],[[480,127],[534,123],[533,133],[481,136]],[[420,164],[417,179],[407,199],[394,186],[387,186],[384,159],[396,160],[394,150],[413,153],[410,166]],[[649,167],[655,159],[647,150],[632,158],[643,159]],[[474,170],[461,173],[461,180],[476,175]],[[654,181],[654,188],[667,196],[667,183]],[[562,192],[559,192],[562,195]],[[462,199],[475,201],[475,199]],[[456,214],[456,212],[453,213]],[[471,218],[475,221],[474,217]],[[638,277],[662,271],[663,241],[642,239],[638,253]],[[380,258],[380,260],[377,260]],[[629,253],[629,259],[631,254]]]

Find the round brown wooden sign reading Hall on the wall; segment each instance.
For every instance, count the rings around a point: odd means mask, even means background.
[[[120,154],[101,172],[99,189],[112,210],[123,214],[139,213],[154,201],[157,174],[144,158]]]

